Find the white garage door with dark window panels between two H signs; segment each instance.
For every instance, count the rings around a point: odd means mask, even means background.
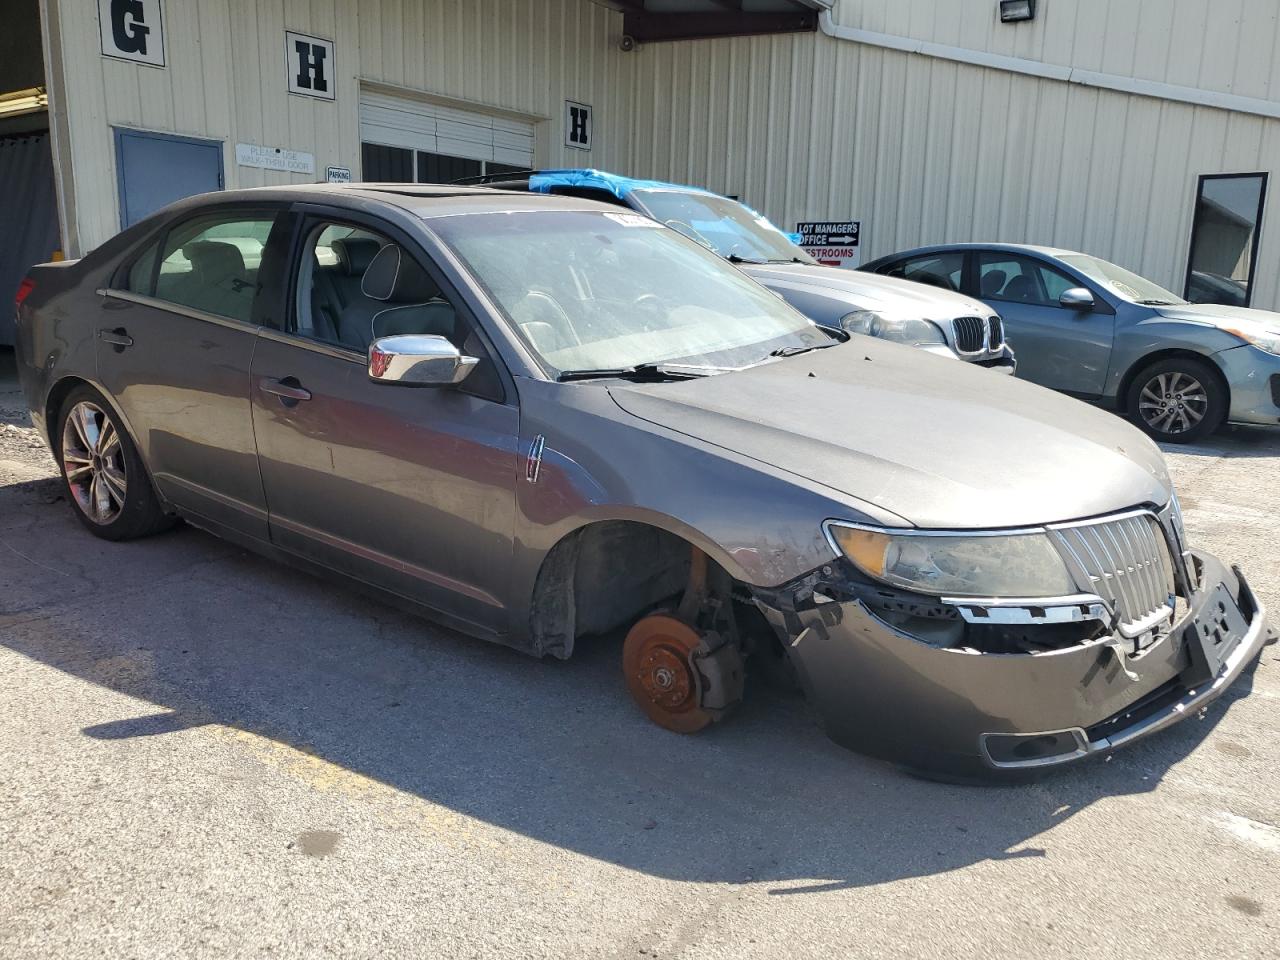
[[[534,124],[364,90],[360,140],[366,180],[447,183],[534,165]]]

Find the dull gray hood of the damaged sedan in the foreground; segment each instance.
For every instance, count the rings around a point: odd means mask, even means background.
[[[1170,497],[1120,417],[867,337],[731,374],[611,385],[627,413],[925,529],[1034,526]]]

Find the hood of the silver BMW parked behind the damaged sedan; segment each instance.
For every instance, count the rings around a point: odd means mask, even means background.
[[[886,315],[950,320],[955,316],[991,316],[992,312],[982,301],[897,276],[806,264],[762,264],[742,269],[767,287],[787,284],[820,289],[827,296],[844,294],[865,310]]]

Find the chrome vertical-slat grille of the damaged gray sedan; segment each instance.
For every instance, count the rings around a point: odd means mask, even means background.
[[[1125,636],[1138,636],[1174,612],[1174,562],[1151,513],[1050,527],[1076,582],[1106,600]]]

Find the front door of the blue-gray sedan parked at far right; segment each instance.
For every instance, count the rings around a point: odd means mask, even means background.
[[[974,255],[974,275],[973,296],[1005,320],[1019,378],[1082,397],[1102,394],[1115,314],[1101,298],[1092,311],[1061,306],[1062,293],[1082,284],[1020,253],[980,250]]]

